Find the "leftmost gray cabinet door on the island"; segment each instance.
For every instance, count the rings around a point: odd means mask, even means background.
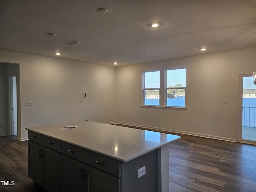
[[[28,141],[28,176],[42,187],[42,146]]]

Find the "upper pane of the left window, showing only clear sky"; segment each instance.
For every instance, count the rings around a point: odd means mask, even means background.
[[[160,71],[145,72],[144,88],[160,88]]]

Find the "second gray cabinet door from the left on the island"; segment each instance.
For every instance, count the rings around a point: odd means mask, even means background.
[[[43,188],[48,192],[60,192],[60,153],[42,147]]]

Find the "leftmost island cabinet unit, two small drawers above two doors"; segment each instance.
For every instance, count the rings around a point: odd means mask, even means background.
[[[29,138],[28,176],[48,192],[59,192],[59,141],[33,132],[29,132]]]

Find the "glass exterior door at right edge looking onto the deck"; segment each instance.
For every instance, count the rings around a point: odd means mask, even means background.
[[[256,145],[256,85],[251,74],[240,75],[240,138]]]

